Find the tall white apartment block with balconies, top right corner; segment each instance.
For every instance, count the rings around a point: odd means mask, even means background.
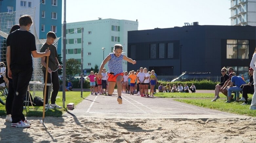
[[[256,0],[231,0],[231,25],[256,26]]]

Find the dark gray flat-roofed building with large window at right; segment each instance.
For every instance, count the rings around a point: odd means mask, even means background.
[[[158,75],[184,71],[211,72],[232,66],[239,75],[248,73],[256,47],[255,26],[193,25],[128,32],[128,57]]]

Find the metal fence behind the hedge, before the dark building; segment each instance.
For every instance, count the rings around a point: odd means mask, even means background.
[[[157,80],[171,81],[172,79],[178,78],[177,75],[157,75]],[[186,78],[178,79],[177,81],[190,81],[190,80],[211,80],[213,82],[220,82],[220,76],[186,76]]]

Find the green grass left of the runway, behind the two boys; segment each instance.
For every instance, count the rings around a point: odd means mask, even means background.
[[[78,103],[80,103],[84,98],[86,98],[87,96],[89,96],[90,92],[83,92],[83,98],[81,98],[81,92],[75,92],[75,91],[69,91],[66,92],[66,101],[65,101],[65,107],[62,109],[49,109],[45,112],[45,116],[52,116],[52,117],[61,117],[63,113],[65,113],[66,111],[66,106],[69,103],[74,103],[75,105],[77,105]],[[62,92],[59,92],[56,98],[56,102],[57,105],[63,106],[63,102],[62,102]],[[30,106],[30,108],[32,108],[32,106]],[[41,117],[43,115],[43,107],[40,106],[36,106],[36,108],[40,108],[40,109],[24,109],[23,110],[23,114],[26,116],[34,116],[34,117]],[[5,110],[5,106],[0,104],[0,116],[5,116],[6,115],[6,110]]]

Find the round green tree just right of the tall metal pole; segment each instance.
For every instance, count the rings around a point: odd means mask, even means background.
[[[74,76],[76,74],[79,74],[81,71],[80,67],[81,67],[81,63],[79,63],[76,59],[74,58],[68,59],[68,61],[66,62],[67,75]]]

